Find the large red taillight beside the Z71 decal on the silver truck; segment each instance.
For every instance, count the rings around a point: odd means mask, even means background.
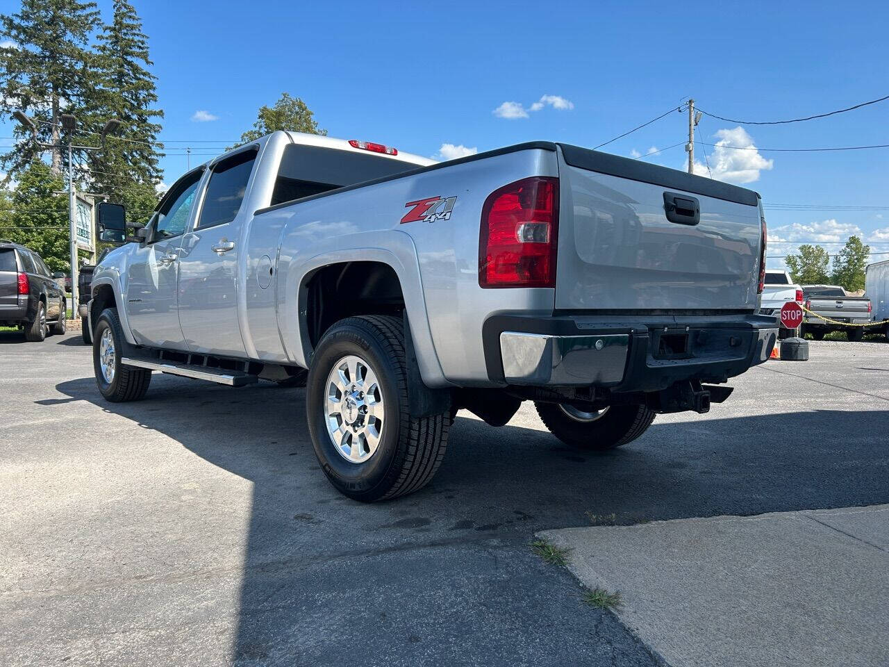
[[[482,207],[478,284],[555,287],[558,179],[516,181],[494,190]]]

